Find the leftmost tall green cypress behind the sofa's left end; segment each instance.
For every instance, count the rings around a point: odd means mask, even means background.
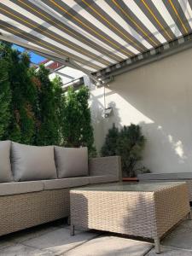
[[[2,105],[0,111],[4,112],[6,109],[9,111],[9,120],[6,120],[3,138],[32,144],[35,132],[33,106],[36,89],[29,73],[30,56],[25,52],[21,54],[20,51],[12,49],[12,44],[1,42],[0,45],[3,63],[1,72],[4,69],[7,70],[7,86],[4,84],[0,91],[0,97],[7,100],[7,104]]]

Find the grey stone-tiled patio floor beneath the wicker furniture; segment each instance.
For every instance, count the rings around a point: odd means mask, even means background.
[[[192,255],[192,222],[183,220],[161,241],[161,255]],[[65,255],[65,256],[152,256],[154,244],[125,236],[77,230],[70,236],[67,220],[44,224],[3,236],[1,256]]]

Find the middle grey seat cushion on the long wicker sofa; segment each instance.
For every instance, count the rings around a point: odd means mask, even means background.
[[[42,182],[44,183],[44,190],[67,189],[87,185],[89,183],[89,179],[88,177],[67,177],[61,179],[44,180]]]

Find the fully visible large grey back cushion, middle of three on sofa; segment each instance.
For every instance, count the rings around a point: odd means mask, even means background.
[[[11,162],[15,181],[56,178],[54,147],[12,143]]]

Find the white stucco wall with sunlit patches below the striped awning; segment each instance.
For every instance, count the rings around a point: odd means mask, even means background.
[[[147,137],[143,164],[151,172],[192,172],[192,49],[115,78],[106,90],[113,115],[103,119],[103,88],[92,87],[99,151],[108,128],[139,124]]]

